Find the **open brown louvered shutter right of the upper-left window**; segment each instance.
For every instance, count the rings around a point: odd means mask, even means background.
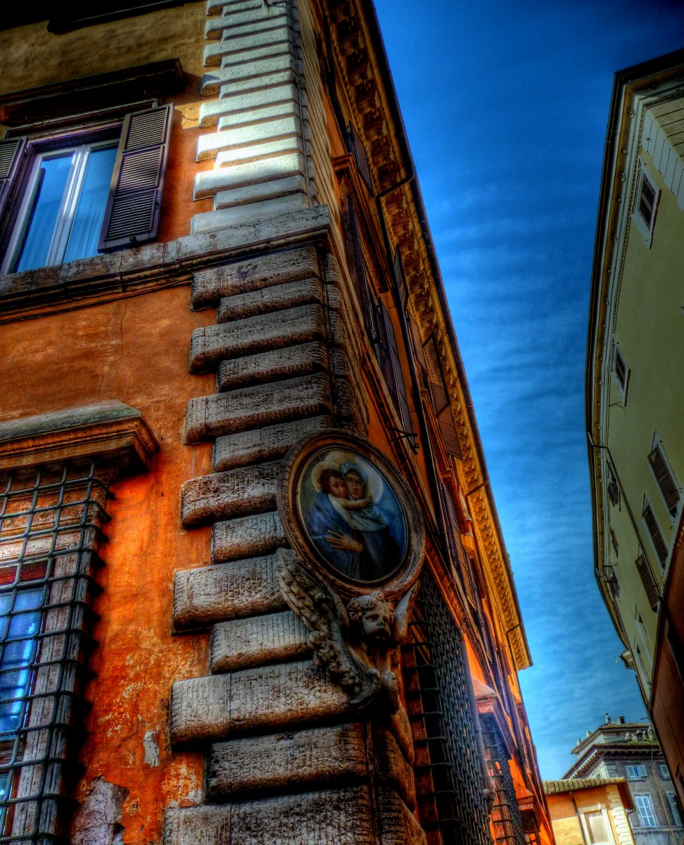
[[[100,232],[100,252],[157,236],[172,113],[173,106],[161,106],[126,117]]]

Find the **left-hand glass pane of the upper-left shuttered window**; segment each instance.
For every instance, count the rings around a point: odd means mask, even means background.
[[[29,211],[14,272],[45,266],[72,158],[73,153],[67,153],[41,162],[35,199]]]

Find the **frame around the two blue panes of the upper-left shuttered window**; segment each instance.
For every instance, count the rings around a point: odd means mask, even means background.
[[[119,130],[121,125],[119,125]],[[108,137],[106,137],[108,136]],[[75,136],[78,139],[78,135]],[[68,238],[73,226],[73,218],[79,207],[79,200],[81,197],[84,178],[90,154],[93,150],[104,150],[117,148],[119,134],[117,134],[117,126],[112,126],[107,129],[100,129],[95,133],[84,134],[84,141],[79,144],[64,145],[64,141],[72,140],[73,135],[65,136],[60,142],[54,143],[50,141],[36,140],[29,143],[28,155],[29,160],[26,162],[24,172],[20,175],[21,183],[18,190],[21,193],[21,198],[18,199],[18,205],[13,215],[14,219],[10,224],[10,233],[7,242],[7,249],[3,258],[3,263],[0,265],[0,272],[13,273],[17,272],[15,266],[20,260],[19,248],[25,234],[28,232],[31,224],[32,210],[34,209],[36,193],[39,188],[39,174],[41,164],[43,161],[57,158],[59,155],[68,153],[73,154],[71,166],[67,181],[64,185],[62,193],[62,202],[57,211],[57,220],[52,231],[51,245],[48,248],[46,262],[41,264],[41,267],[54,267],[57,264],[63,263],[64,255],[68,248]],[[115,161],[116,166],[116,161]],[[113,168],[112,168],[113,174]],[[110,188],[107,192],[107,199],[111,192],[111,177]],[[106,211],[106,202],[102,209],[104,218]],[[100,227],[101,228],[101,227]],[[95,255],[99,254],[98,252]],[[80,258],[93,258],[94,256],[80,256]]]

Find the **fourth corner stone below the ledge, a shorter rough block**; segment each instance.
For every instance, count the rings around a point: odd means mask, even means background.
[[[245,384],[291,379],[327,368],[328,348],[324,343],[317,341],[222,361],[219,364],[216,384],[219,390],[231,390]]]

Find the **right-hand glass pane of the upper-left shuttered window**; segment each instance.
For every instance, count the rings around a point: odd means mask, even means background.
[[[100,229],[105,216],[111,174],[117,158],[116,147],[91,150],[79,204],[73,218],[64,261],[87,259],[97,254]]]

